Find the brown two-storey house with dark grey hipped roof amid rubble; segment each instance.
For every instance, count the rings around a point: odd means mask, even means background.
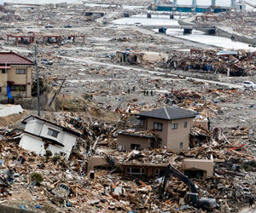
[[[189,149],[189,131],[195,112],[179,107],[159,108],[137,114],[136,130],[120,131],[119,150],[167,148],[174,152]]]

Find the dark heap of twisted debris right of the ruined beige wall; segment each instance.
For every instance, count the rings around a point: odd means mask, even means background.
[[[184,71],[202,71],[228,74],[230,76],[252,76],[255,71],[255,53],[242,51],[237,55],[218,55],[218,51],[205,50],[196,54],[169,55],[169,59],[160,66],[167,69]]]

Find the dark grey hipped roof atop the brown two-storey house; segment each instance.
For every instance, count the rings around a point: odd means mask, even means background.
[[[160,109],[154,109],[148,112],[142,112],[137,115],[141,117],[159,118],[164,120],[195,118],[195,112],[192,112],[191,110],[179,108],[179,107],[169,107],[169,108],[164,107]]]

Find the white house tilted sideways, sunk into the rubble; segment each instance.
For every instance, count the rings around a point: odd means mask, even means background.
[[[68,159],[80,136],[78,132],[35,116],[25,118],[22,124],[26,124],[26,127],[20,147],[42,156],[49,150],[52,155],[65,154]]]

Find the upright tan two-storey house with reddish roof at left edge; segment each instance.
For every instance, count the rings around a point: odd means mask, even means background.
[[[0,95],[31,97],[33,61],[14,52],[0,53]]]

